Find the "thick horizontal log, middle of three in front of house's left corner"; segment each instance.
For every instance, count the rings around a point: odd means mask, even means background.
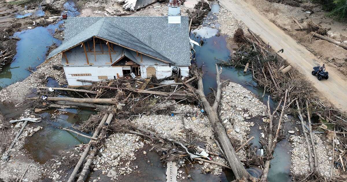
[[[26,98],[26,100],[38,100],[39,97]],[[73,97],[47,97],[48,101],[71,101],[81,103],[103,103],[103,104],[117,104],[117,100],[113,98],[73,98]]]

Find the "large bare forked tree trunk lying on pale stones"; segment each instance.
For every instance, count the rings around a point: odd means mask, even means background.
[[[217,140],[220,143],[221,148],[224,151],[225,157],[232,168],[232,171],[235,174],[235,177],[237,179],[249,179],[251,175],[246,171],[245,167],[242,165],[240,159],[236,155],[236,152],[234,148],[231,145],[230,139],[226,133],[225,127],[220,122],[219,116],[218,116],[218,107],[221,97],[221,89],[222,85],[226,82],[221,83],[220,80],[220,73],[222,72],[222,69],[219,70],[216,64],[217,69],[217,93],[215,95],[215,101],[213,103],[213,106],[210,105],[210,103],[207,101],[204,90],[203,90],[203,84],[202,84],[202,75],[198,76],[198,89],[196,90],[196,93],[199,95],[206,113],[208,114],[210,123],[212,125],[212,128],[214,130],[214,136],[217,138]],[[228,80],[227,80],[228,81]]]

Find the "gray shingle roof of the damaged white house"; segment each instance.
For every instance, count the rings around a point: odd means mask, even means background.
[[[163,17],[68,17],[65,40],[48,58],[93,36],[104,38],[175,65],[190,65],[188,17],[168,24]]]

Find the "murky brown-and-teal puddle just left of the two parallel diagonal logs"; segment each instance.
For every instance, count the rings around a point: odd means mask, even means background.
[[[57,119],[56,121],[51,121],[53,111],[50,110],[50,112],[40,114],[42,121],[29,125],[29,127],[35,128],[42,126],[43,128],[32,137],[27,137],[27,142],[24,145],[24,148],[29,151],[33,159],[41,164],[58,157],[62,151],[73,149],[75,147],[74,145],[85,144],[90,140],[77,136],[75,133],[54,127],[70,128],[73,124],[87,120],[91,114],[96,114],[94,110],[87,109],[58,109],[58,111],[65,111],[67,113],[60,115],[54,114]],[[84,134],[88,135],[86,133]]]

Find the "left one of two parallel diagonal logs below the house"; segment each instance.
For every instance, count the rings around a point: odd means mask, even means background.
[[[110,109],[109,109],[109,110],[110,110]],[[94,137],[94,138],[97,137],[97,136],[99,135],[99,132],[100,132],[101,128],[103,127],[103,125],[105,124],[105,121],[106,121],[109,117],[112,118],[112,117],[113,117],[113,114],[106,113],[106,114],[104,115],[104,117],[103,117],[102,120],[100,121],[98,127],[97,127],[97,128],[95,129],[95,131],[94,131],[94,134],[93,134],[93,137]],[[70,175],[70,177],[69,177],[68,182],[74,181],[75,176],[76,176],[76,174],[77,174],[77,172],[78,172],[79,167],[81,167],[81,165],[82,165],[84,159],[86,158],[86,156],[87,156],[87,154],[88,154],[88,152],[89,152],[89,149],[90,149],[90,147],[91,147],[91,142],[92,142],[92,140],[89,141],[88,145],[87,145],[86,148],[84,149],[81,158],[79,158],[79,161],[78,161],[78,163],[76,164],[76,166],[75,166],[75,168],[74,168],[74,171],[71,173],[71,175]]]

